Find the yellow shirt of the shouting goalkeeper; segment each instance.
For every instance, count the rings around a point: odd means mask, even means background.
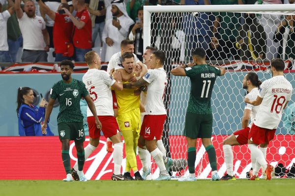
[[[123,89],[122,91],[115,90],[115,93],[118,103],[118,114],[123,114],[129,112],[130,110],[139,108],[140,95],[134,95],[134,89]]]

